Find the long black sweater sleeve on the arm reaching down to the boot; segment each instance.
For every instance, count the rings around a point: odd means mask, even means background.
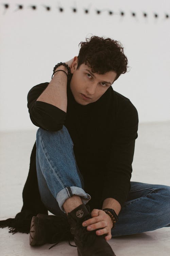
[[[138,134],[138,113],[130,101],[125,101],[118,111],[117,125],[113,136],[111,155],[106,166],[106,176],[101,199],[116,199],[121,208],[131,189],[132,162],[135,139]]]

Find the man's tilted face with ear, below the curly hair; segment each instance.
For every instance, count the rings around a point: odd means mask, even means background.
[[[77,56],[72,63],[70,89],[75,101],[81,105],[97,101],[116,79],[116,72],[109,71],[105,74],[92,73],[87,65],[80,65],[77,69]],[[86,98],[83,95],[89,97]]]

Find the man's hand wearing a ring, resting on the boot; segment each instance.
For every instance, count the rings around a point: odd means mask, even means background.
[[[113,227],[113,222],[111,217],[105,213],[103,210],[93,209],[91,212],[90,219],[87,219],[82,223],[83,227],[87,227],[88,231],[101,228],[96,231],[98,236],[107,234],[104,238],[105,240],[110,240],[112,238],[111,229]],[[90,229],[91,228],[91,229]]]

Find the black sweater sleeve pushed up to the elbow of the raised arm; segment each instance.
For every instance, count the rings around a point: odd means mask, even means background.
[[[58,131],[63,128],[67,113],[52,104],[36,101],[48,84],[38,84],[30,89],[27,96],[28,111],[34,125],[48,131]]]

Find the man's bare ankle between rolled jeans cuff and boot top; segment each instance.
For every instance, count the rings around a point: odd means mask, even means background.
[[[73,195],[72,197],[69,197],[68,199],[66,199],[66,201],[63,204],[63,208],[66,214],[68,215],[68,212],[71,212],[82,203],[83,202],[80,196]]]

